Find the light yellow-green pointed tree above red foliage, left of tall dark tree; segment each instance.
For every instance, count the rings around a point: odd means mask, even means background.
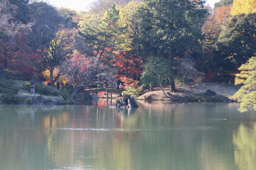
[[[92,54],[108,64],[112,60],[113,52],[119,50],[124,42],[125,29],[127,27],[120,26],[119,23],[119,10],[113,5],[106,11],[100,25],[87,24],[80,35]]]

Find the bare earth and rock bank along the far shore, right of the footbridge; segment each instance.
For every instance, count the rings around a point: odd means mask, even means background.
[[[209,88],[209,89],[208,89]],[[191,84],[183,92],[181,86],[177,86],[176,93],[170,93],[169,88],[163,91],[155,89],[148,91],[137,99],[139,101],[164,101],[169,103],[192,103],[192,102],[215,102],[231,103],[237,102],[233,95],[239,87],[232,84]],[[211,90],[211,89],[214,89]]]

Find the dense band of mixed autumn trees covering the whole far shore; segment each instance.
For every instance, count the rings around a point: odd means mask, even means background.
[[[256,64],[250,60],[256,0],[221,0],[214,8],[204,3],[98,0],[78,12],[43,1],[1,0],[1,77],[68,84],[70,96],[114,81],[134,94],[142,86],[169,85],[175,92],[175,83],[185,81],[243,84],[251,72],[242,73],[242,64]],[[255,90],[255,79],[250,85]]]

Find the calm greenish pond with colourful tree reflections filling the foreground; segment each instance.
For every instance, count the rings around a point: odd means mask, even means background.
[[[256,113],[237,103],[0,106],[0,169],[256,168]]]

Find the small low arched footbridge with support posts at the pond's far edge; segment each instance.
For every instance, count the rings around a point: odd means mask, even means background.
[[[95,89],[85,89],[83,92],[85,94],[95,94],[100,91],[105,91],[107,98],[109,98],[109,94],[110,94],[110,105],[112,106],[112,94],[122,94],[122,91],[124,91],[124,89],[95,88]],[[108,106],[108,100],[107,100],[107,106]]]

